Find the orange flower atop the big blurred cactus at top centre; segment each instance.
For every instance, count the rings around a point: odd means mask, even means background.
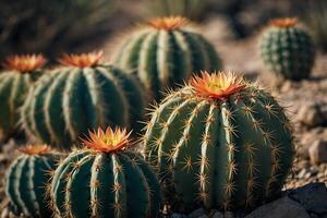
[[[153,19],[146,25],[156,29],[174,31],[185,26],[189,20],[182,16],[167,16]]]

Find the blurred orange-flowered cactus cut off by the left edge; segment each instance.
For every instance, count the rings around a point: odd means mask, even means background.
[[[5,141],[17,132],[19,109],[23,105],[28,88],[40,75],[38,69],[46,60],[43,56],[25,55],[9,57],[0,74],[0,140]]]

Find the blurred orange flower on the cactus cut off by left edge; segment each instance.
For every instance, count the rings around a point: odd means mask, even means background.
[[[28,73],[43,68],[47,60],[43,55],[22,55],[8,57],[3,65],[9,70]]]

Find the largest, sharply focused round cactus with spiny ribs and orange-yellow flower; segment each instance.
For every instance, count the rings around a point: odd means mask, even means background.
[[[246,209],[278,195],[292,165],[284,109],[233,73],[202,73],[154,109],[144,135],[168,203]]]

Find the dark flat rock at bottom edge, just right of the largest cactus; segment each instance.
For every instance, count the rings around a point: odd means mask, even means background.
[[[247,215],[245,218],[310,218],[301,204],[288,196],[263,205]]]

